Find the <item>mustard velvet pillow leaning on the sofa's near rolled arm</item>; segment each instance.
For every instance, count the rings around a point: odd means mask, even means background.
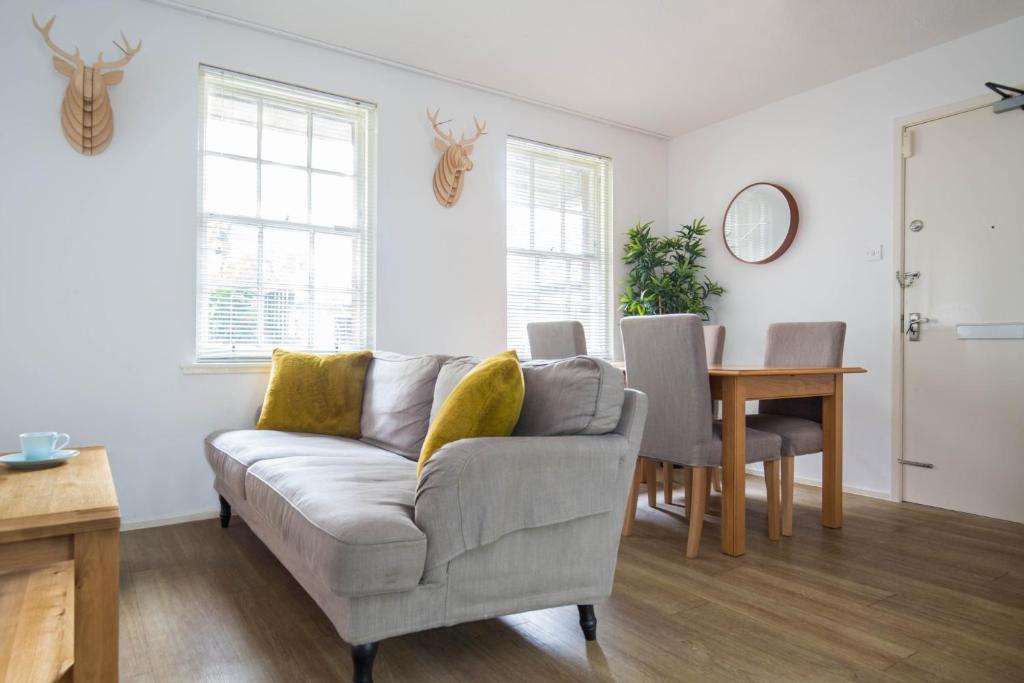
[[[430,457],[452,441],[479,436],[509,436],[519,422],[525,393],[515,351],[480,361],[452,389],[427,431],[416,475]]]

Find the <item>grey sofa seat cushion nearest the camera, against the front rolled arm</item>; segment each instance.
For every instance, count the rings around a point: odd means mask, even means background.
[[[337,595],[408,591],[423,575],[416,463],[374,451],[262,460],[246,473],[246,503]]]

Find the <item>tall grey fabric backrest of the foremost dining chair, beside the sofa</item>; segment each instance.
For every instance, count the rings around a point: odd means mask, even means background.
[[[647,394],[640,455],[705,465],[712,451],[711,381],[700,318],[692,314],[624,317],[626,383]]]

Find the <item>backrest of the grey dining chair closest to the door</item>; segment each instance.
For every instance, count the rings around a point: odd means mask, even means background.
[[[843,365],[845,342],[846,323],[775,323],[768,326],[765,366],[838,368]],[[762,400],[758,411],[821,422],[820,398]]]

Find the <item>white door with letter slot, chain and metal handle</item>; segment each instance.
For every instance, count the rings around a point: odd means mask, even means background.
[[[909,131],[903,500],[1024,522],[1024,112]]]

